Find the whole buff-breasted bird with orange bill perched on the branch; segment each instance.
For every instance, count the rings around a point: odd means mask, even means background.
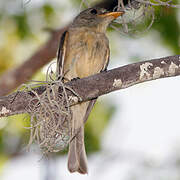
[[[107,69],[109,63],[108,25],[124,11],[107,11],[100,7],[88,8],[75,17],[62,34],[57,55],[57,79],[64,82],[84,78]],[[93,99],[71,107],[72,127],[68,151],[68,170],[88,173],[84,145],[84,124],[96,102]]]

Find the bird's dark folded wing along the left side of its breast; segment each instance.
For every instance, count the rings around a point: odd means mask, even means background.
[[[58,80],[60,77],[63,76],[63,67],[64,67],[64,59],[66,55],[66,46],[67,46],[67,39],[68,39],[68,31],[64,31],[61,36],[59,49],[58,49],[58,56],[57,56],[57,67],[56,67],[56,79]]]

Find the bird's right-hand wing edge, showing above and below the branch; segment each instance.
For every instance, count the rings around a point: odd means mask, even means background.
[[[107,51],[106,51],[106,57],[105,57],[105,61],[104,61],[104,66],[103,66],[101,71],[106,71],[107,70],[107,66],[109,64],[109,57],[110,57],[110,51],[109,51],[109,48],[108,48]],[[87,121],[87,119],[89,117],[89,114],[92,111],[92,108],[94,107],[94,104],[96,103],[96,101],[97,101],[97,98],[93,99],[93,100],[91,100],[89,102],[86,114],[84,116],[84,123]]]

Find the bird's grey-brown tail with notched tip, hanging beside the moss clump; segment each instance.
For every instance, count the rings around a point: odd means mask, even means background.
[[[79,128],[69,144],[68,169],[72,173],[76,171],[81,174],[88,173],[84,146],[84,125]]]

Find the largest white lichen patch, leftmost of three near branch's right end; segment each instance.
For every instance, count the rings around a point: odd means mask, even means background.
[[[140,80],[151,78],[151,74],[148,72],[148,68],[150,68],[151,66],[153,66],[153,64],[149,62],[140,65]]]

